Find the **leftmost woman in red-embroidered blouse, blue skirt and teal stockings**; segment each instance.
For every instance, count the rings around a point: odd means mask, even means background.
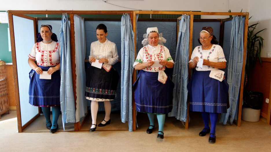
[[[29,103],[41,107],[46,119],[46,127],[54,133],[58,129],[60,114],[60,44],[51,25],[41,25],[38,41],[28,55]],[[36,61],[36,63],[35,63]],[[51,79],[42,79],[40,74],[47,73]],[[52,107],[53,121],[50,119]]]

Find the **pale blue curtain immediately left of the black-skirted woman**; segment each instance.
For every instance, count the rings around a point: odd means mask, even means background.
[[[85,41],[85,26],[84,18],[78,15],[73,15],[74,19],[74,40],[75,40],[75,74],[76,74],[76,122],[84,117],[87,113],[87,100],[85,97],[86,86],[86,41]]]

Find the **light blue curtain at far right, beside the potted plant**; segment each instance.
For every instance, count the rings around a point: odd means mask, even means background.
[[[244,57],[244,27],[242,17],[235,16],[232,20],[230,56],[228,60],[227,82],[229,84],[229,103],[230,108],[227,113],[222,113],[220,123],[226,125],[228,119],[231,124],[236,113],[239,90],[241,84],[241,73]]]

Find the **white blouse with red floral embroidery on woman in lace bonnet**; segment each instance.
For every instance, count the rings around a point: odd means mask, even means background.
[[[133,67],[139,63],[144,63],[147,61],[161,61],[161,60],[167,60],[168,62],[172,62],[174,64],[174,61],[172,60],[172,57],[167,47],[160,44],[158,44],[157,46],[146,45],[139,50],[137,54],[137,58],[134,61]],[[145,67],[142,70],[149,71],[149,72],[159,72],[159,71],[164,71],[165,66],[155,67],[155,68]]]

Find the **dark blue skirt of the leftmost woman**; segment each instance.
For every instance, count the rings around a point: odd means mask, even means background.
[[[51,66],[38,66],[48,71]],[[29,103],[33,106],[52,107],[60,105],[60,71],[56,71],[49,79],[39,79],[35,70],[29,73]]]

